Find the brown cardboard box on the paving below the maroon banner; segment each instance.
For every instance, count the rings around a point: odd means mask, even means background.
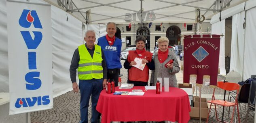
[[[199,119],[199,97],[194,97],[194,107],[191,107],[190,118]],[[206,98],[201,98],[201,119],[207,119],[208,105]]]

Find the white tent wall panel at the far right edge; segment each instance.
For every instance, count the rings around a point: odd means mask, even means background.
[[[256,75],[256,42],[254,37],[256,33],[256,2],[254,3],[254,8],[246,10],[243,80],[250,78],[252,74]]]

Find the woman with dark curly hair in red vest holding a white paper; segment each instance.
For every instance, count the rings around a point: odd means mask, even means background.
[[[127,83],[133,83],[134,86],[146,86],[148,85],[148,73],[149,69],[154,69],[154,61],[152,60],[152,53],[146,51],[145,44],[146,40],[144,37],[140,36],[135,41],[136,50],[130,50],[125,60],[124,67],[128,69],[128,81]],[[144,69],[141,70],[134,65],[136,63],[134,61],[135,58],[139,58],[142,61],[142,64],[146,64]]]

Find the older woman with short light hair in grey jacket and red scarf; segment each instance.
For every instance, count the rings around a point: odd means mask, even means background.
[[[155,70],[151,73],[150,85],[155,85],[157,78],[169,78],[169,86],[177,87],[176,73],[180,71],[179,63],[176,54],[168,49],[169,40],[166,37],[161,37],[157,40],[159,51],[154,54],[154,67]],[[172,64],[165,64],[169,60],[174,59]],[[162,82],[162,86],[164,82]]]

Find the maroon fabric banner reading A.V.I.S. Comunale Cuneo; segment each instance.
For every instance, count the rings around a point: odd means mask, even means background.
[[[203,75],[210,76],[210,85],[216,85],[220,54],[220,35],[184,36],[183,81],[189,83],[189,75],[197,75],[197,84],[203,84]]]

